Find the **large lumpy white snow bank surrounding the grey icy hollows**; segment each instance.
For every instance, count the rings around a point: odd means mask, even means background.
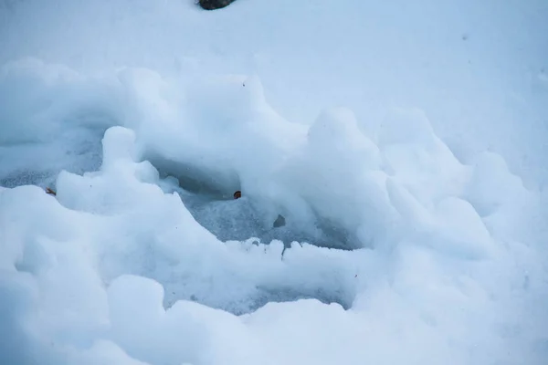
[[[518,359],[543,339],[516,310],[529,296],[520,280],[539,287],[543,269],[524,276],[530,249],[501,242],[534,242],[524,221],[537,195],[500,156],[458,162],[421,110],[390,110],[371,132],[333,108],[308,128],[272,111],[257,77],[111,77],[111,115],[132,129],[106,130],[99,170],[59,173],[56,197],[0,191],[5,323],[17,334],[4,360],[299,363],[330,344],[316,362],[469,363]],[[227,199],[236,189],[244,197]],[[269,227],[280,213],[285,231]],[[223,243],[205,227],[229,237],[227,219],[239,239]],[[520,263],[501,274],[515,250]],[[335,304],[263,307],[302,298]],[[501,355],[508,341],[519,355]]]

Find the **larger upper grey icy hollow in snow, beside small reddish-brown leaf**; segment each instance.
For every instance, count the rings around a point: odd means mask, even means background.
[[[236,172],[214,172],[200,166],[166,160],[147,155],[162,178],[173,177],[175,189],[195,220],[223,241],[244,241],[258,238],[269,244],[279,240],[288,247],[292,242],[309,243],[320,247],[353,250],[361,247],[358,238],[340,224],[316,214],[315,222],[302,224],[291,215],[279,212],[271,203],[260,201],[242,192]]]

